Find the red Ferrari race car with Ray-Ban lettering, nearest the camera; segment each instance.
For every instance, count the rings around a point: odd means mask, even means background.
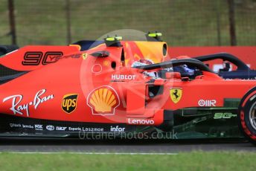
[[[255,80],[223,80],[198,59],[166,59],[165,42],[115,36],[82,44],[1,57],[1,136],[256,141]],[[193,72],[175,69],[184,66]]]

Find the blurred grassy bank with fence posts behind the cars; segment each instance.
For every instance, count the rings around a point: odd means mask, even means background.
[[[170,46],[256,45],[256,0],[0,0],[0,45],[67,45],[118,29]]]

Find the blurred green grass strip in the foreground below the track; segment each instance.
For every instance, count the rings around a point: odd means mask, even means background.
[[[0,170],[255,170],[252,152],[178,155],[0,154]]]

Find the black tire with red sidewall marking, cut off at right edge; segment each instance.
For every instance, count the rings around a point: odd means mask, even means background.
[[[243,135],[256,145],[256,87],[241,100],[238,120]]]

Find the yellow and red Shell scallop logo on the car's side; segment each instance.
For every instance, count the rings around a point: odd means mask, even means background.
[[[87,104],[91,107],[92,114],[112,115],[120,105],[120,100],[114,88],[101,86],[89,93]]]

